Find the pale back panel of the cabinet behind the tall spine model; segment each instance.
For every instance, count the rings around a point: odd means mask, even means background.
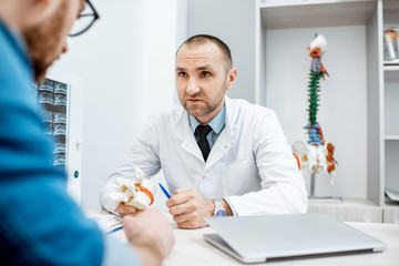
[[[330,79],[320,81],[317,120],[325,140],[336,146],[339,164],[335,185],[329,185],[327,173],[317,176],[316,196],[366,197],[365,25],[267,30],[266,105],[276,111],[289,144],[307,140],[303,130],[308,120],[307,45],[315,32],[327,39],[323,63],[330,74]],[[305,176],[309,184],[309,174]]]

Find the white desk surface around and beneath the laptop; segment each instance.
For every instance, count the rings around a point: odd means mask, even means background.
[[[173,223],[173,222],[172,222]],[[311,258],[284,259],[279,262],[268,262],[265,264],[252,265],[378,265],[378,266],[398,266],[399,265],[399,224],[374,224],[374,223],[347,223],[387,244],[387,249],[382,253],[336,255]],[[201,229],[178,229],[173,223],[176,244],[171,254],[166,257],[165,266],[196,266],[196,265],[244,265],[225,254],[221,249],[212,246],[203,239],[203,234],[214,233],[211,227]],[[119,231],[112,236],[124,241],[123,231]]]

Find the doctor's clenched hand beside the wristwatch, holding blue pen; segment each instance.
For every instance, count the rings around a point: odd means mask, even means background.
[[[192,187],[177,188],[166,202],[173,219],[180,228],[193,229],[207,226],[204,217],[212,217],[213,201],[207,200]]]

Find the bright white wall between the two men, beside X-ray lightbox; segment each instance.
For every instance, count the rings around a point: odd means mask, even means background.
[[[82,37],[70,39],[69,53],[53,66],[85,81],[85,207],[99,206],[102,183],[146,116],[175,102],[174,53],[176,42],[185,38],[184,27],[176,23],[186,18],[186,0],[96,0],[93,4],[101,19]]]

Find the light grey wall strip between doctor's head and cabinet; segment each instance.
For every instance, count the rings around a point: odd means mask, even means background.
[[[211,34],[232,51],[237,80],[228,95],[255,102],[255,1],[190,0],[188,35]]]

